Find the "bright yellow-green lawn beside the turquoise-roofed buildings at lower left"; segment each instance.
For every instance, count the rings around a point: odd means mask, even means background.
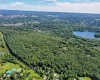
[[[0,64],[0,74],[4,74],[6,72],[6,70],[12,70],[13,68],[26,68],[24,69],[25,73],[30,73],[29,76],[26,77],[25,80],[29,80],[30,77],[34,77],[34,80],[43,80],[43,78],[41,78],[37,73],[35,73],[34,70],[28,68],[27,66],[25,66],[23,63],[21,64],[22,67],[20,67],[19,64],[13,64],[10,62],[6,62],[6,63],[2,63]],[[24,66],[24,67],[23,67]]]

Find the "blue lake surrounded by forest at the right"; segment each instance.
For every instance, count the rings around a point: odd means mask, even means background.
[[[80,36],[80,37],[84,37],[84,38],[91,38],[91,39],[96,39],[94,37],[95,32],[80,32],[80,31],[74,31],[73,32],[74,35]]]

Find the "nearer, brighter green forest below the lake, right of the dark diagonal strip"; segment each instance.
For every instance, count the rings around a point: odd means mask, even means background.
[[[41,77],[46,75],[48,79],[53,79],[54,73],[60,74],[60,79],[99,77],[100,51],[95,49],[100,46],[99,41],[65,39],[22,30],[12,31],[9,35],[7,33],[6,41],[13,53],[34,68]]]

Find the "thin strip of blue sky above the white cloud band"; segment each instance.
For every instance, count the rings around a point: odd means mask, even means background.
[[[59,1],[59,2],[71,2],[71,3],[84,3],[84,2],[100,2],[100,0],[0,0],[0,4],[10,3],[10,2],[25,2],[28,4],[39,4],[42,1]]]

